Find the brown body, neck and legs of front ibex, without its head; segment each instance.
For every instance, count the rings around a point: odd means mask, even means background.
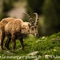
[[[7,49],[9,49],[10,39],[12,39],[12,43],[13,43],[12,49],[13,50],[15,49],[17,38],[21,42],[22,50],[24,49],[23,35],[28,34],[28,32],[29,32],[28,24],[29,24],[28,22],[23,22],[21,19],[15,19],[15,21],[13,21],[13,22],[10,21],[5,26],[5,32],[6,32],[6,36],[7,36],[7,41],[6,41],[5,46],[7,47]]]

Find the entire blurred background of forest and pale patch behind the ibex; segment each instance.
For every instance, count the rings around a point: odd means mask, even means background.
[[[0,0],[0,20],[5,17],[22,18],[28,21],[23,13],[35,18],[39,15],[39,35],[51,35],[60,31],[60,0]]]

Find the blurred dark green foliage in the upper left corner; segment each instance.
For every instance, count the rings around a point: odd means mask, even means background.
[[[1,0],[0,1],[2,11],[0,14],[0,20],[2,18],[8,17],[7,12],[14,7],[14,0]]]

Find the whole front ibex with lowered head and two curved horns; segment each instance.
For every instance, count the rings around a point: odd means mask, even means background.
[[[30,16],[25,13],[29,18]],[[7,36],[6,40],[6,48],[9,49],[9,43],[10,40],[12,39],[13,47],[12,49],[15,49],[16,45],[16,39],[18,38],[21,42],[22,50],[24,50],[24,43],[23,43],[23,37],[26,34],[33,34],[37,36],[38,34],[38,14],[34,13],[36,15],[36,20],[35,22],[31,22],[32,19],[30,18],[30,22],[23,22],[21,19],[15,19],[14,21],[10,21],[6,26],[5,26],[5,32]]]

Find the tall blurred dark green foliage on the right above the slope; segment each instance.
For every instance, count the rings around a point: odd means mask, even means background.
[[[47,33],[52,34],[60,31],[60,0],[46,0],[43,13]]]

